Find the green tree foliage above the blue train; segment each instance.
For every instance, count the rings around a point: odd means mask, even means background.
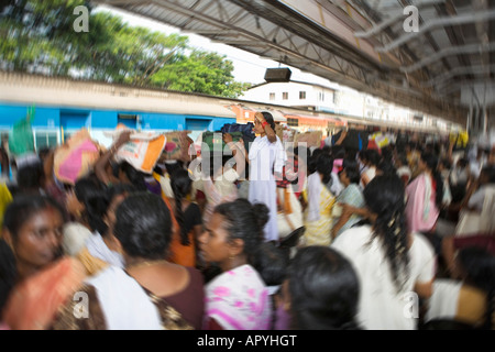
[[[89,9],[89,32],[73,28],[78,6]],[[229,98],[250,86],[234,80],[226,56],[189,47],[187,36],[131,26],[92,10],[85,0],[3,0],[0,69]]]

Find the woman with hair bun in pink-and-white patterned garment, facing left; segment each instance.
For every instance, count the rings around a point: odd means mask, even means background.
[[[206,286],[207,330],[266,330],[272,319],[268,288],[253,267],[263,243],[268,209],[246,199],[215,209],[199,240],[207,262],[222,273]]]

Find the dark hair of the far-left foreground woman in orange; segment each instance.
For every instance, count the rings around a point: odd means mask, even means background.
[[[20,195],[7,207],[3,213],[3,228],[9,230],[12,238],[16,240],[22,226],[38,211],[52,208],[59,212],[63,219],[66,219],[64,209],[56,200],[42,195]]]

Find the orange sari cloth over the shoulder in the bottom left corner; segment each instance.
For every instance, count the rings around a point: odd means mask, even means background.
[[[58,309],[72,299],[85,278],[85,267],[73,257],[51,264],[14,287],[3,321],[12,330],[50,328]]]

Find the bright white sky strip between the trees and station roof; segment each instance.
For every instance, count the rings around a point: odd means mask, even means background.
[[[125,22],[133,26],[144,26],[153,31],[163,32],[165,34],[179,33],[180,35],[187,35],[189,37],[189,45],[201,48],[207,52],[217,52],[220,55],[226,55],[234,65],[233,76],[237,81],[251,82],[251,84],[262,84],[264,82],[266,68],[275,67],[287,67],[277,62],[262,58],[255,54],[251,54],[239,48],[211,42],[209,38],[196,35],[193,33],[182,32],[179,29],[166,25],[164,23],[146,19],[144,16],[131,14],[125,11],[113,9],[106,6],[100,6],[95,11],[109,11],[113,14],[120,15]],[[292,72],[290,79],[302,80],[307,82],[314,82],[323,86],[336,86],[336,84],[330,82],[328,79],[302,73],[301,70],[289,67]]]

